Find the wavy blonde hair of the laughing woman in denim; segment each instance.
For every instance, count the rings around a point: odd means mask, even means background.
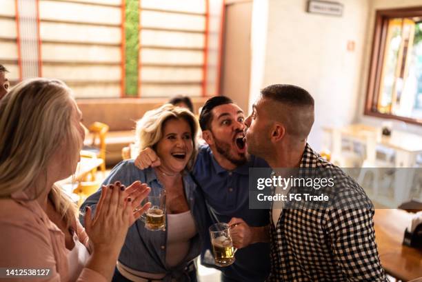
[[[197,156],[197,142],[195,137],[198,132],[198,121],[189,110],[172,104],[164,104],[160,108],[145,112],[142,119],[137,121],[136,145],[139,150],[152,148],[163,137],[163,125],[169,119],[183,119],[188,122],[192,133],[193,152],[188,161],[188,169],[192,168],[195,157]]]

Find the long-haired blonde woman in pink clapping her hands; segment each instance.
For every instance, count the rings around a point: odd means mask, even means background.
[[[149,208],[132,212],[146,185],[103,187],[82,228],[76,205],[54,185],[76,169],[81,119],[70,88],[54,79],[23,81],[0,101],[0,266],[49,272],[31,281],[110,281],[128,228]]]

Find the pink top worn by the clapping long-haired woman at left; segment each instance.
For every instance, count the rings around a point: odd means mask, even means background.
[[[37,201],[28,199],[25,192],[15,192],[12,199],[0,199],[0,267],[1,268],[43,268],[50,269],[50,276],[38,276],[30,281],[70,280],[65,236],[48,219]],[[88,248],[88,236],[75,219],[72,228],[79,241]],[[28,277],[21,277],[24,281]],[[1,279],[1,281],[17,281]],[[78,282],[106,282],[106,278],[88,268],[83,268]]]

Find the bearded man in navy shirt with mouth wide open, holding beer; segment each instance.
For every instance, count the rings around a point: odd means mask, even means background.
[[[249,169],[268,168],[262,159],[246,154],[243,142],[245,115],[224,96],[212,97],[203,105],[199,123],[203,139],[192,168],[212,220],[200,232],[208,236],[201,254],[202,264],[215,267],[208,228],[219,221],[232,225],[236,261],[221,270],[224,282],[265,281],[270,272],[269,210],[249,209]],[[135,163],[141,168],[161,164],[151,148],[141,150]]]

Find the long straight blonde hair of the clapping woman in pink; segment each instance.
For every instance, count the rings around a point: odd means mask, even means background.
[[[35,187],[34,179],[47,178],[50,159],[65,142],[73,146],[69,152],[81,148],[71,122],[72,101],[70,88],[55,79],[22,81],[0,101],[0,197],[25,191],[37,199],[51,189],[48,197],[68,225],[77,206],[56,185]],[[74,156],[63,157],[70,161]]]

